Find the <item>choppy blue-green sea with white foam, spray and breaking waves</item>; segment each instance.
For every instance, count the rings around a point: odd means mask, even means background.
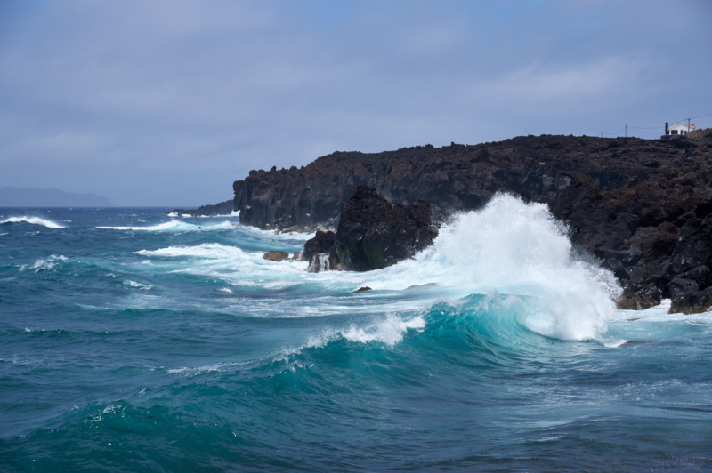
[[[0,470],[712,470],[712,316],[616,309],[543,205],[317,274],[166,210],[0,209]]]

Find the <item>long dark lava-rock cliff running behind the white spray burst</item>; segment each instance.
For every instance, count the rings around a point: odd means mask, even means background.
[[[700,257],[698,266],[683,270],[671,257],[704,233],[692,228],[707,225],[712,213],[711,180],[708,131],[692,140],[529,136],[475,146],[336,152],[301,169],[252,171],[233,189],[241,221],[260,228],[334,227],[360,184],[390,204],[422,199],[448,210],[478,209],[496,192],[512,192],[548,204],[569,223],[574,245],[619,277],[621,307],[641,309],[672,297],[675,309],[699,310],[708,303],[709,287],[698,282],[705,274],[700,266],[712,268],[712,261]],[[673,283],[676,277],[685,281]]]

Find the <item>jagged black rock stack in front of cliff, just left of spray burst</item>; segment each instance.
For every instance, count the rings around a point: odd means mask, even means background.
[[[392,206],[376,189],[361,185],[342,208],[331,261],[367,271],[411,258],[438,235],[434,212],[422,200]]]

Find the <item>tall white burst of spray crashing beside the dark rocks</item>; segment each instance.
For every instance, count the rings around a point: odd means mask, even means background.
[[[614,317],[615,277],[573,251],[566,225],[546,204],[495,196],[444,225],[413,261],[379,271],[374,289],[435,283],[453,295],[530,296],[522,315],[530,330],[564,340],[599,338]]]

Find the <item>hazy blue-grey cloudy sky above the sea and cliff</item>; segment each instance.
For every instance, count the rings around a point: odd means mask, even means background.
[[[708,0],[0,0],[0,187],[188,207],[336,150],[708,128],[710,25]]]

